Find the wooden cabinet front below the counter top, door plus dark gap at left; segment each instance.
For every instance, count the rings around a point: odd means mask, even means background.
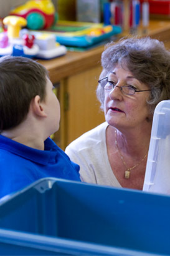
[[[105,121],[95,91],[102,67],[98,64],[57,84],[61,108],[60,130],[54,140],[62,149],[81,134]]]

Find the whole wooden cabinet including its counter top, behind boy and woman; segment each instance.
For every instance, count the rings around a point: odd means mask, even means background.
[[[142,32],[139,29],[139,34]],[[150,21],[149,36],[164,41],[170,47],[170,22]],[[120,34],[119,37],[125,36]],[[95,91],[102,71],[100,58],[104,46],[84,52],[67,52],[65,56],[39,61],[48,70],[50,79],[57,84],[57,97],[61,107],[60,129],[54,140],[62,148],[105,121]]]

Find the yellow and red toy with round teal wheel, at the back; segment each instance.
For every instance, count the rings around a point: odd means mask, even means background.
[[[57,20],[54,4],[51,0],[30,0],[16,7],[10,15],[21,16],[27,20],[29,29],[47,29]]]

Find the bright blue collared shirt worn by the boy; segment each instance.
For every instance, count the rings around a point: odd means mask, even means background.
[[[45,177],[80,181],[79,169],[50,138],[38,150],[0,135],[0,197]]]

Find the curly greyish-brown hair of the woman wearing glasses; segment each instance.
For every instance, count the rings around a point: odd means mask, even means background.
[[[170,51],[163,42],[150,37],[122,38],[106,45],[101,62],[100,79],[119,62],[122,66],[125,64],[136,79],[149,86],[151,92],[147,102],[151,113],[160,101],[170,99]],[[97,97],[103,109],[105,92],[100,84]]]

